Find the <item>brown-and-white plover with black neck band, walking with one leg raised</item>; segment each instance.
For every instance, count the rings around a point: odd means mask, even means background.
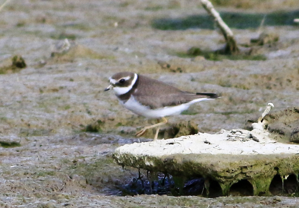
[[[143,135],[146,130],[158,127],[154,140],[158,138],[160,126],[167,123],[165,116],[180,114],[190,105],[199,101],[218,98],[213,93],[189,93],[161,81],[132,72],[120,72],[110,78],[110,86],[124,107],[147,118],[157,118],[157,124],[146,126],[136,133]],[[163,121],[160,122],[159,119]]]

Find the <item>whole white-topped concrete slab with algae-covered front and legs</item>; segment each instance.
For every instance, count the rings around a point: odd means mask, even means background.
[[[275,175],[298,177],[299,145],[279,143],[260,127],[263,125],[255,125],[250,132],[223,130],[214,135],[199,133],[124,145],[115,150],[113,158],[122,166],[168,173],[177,185],[184,178],[204,177],[219,184],[221,195],[229,195],[237,183],[249,195],[271,195]],[[209,184],[205,184],[207,193]]]

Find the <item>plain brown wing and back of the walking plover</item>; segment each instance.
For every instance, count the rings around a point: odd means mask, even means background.
[[[184,92],[163,82],[139,76],[138,90],[132,93],[137,101],[151,109],[176,106],[197,98],[212,98],[212,93],[194,94]],[[215,94],[213,94],[215,95]]]

